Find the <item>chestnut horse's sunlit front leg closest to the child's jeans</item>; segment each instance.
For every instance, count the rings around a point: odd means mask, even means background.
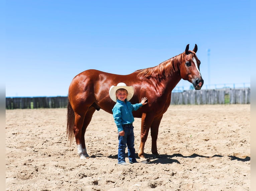
[[[148,119],[149,117],[147,117]],[[145,142],[148,137],[148,132],[150,128],[151,122],[146,119],[146,113],[142,113],[141,116],[141,130],[140,130],[140,147],[138,151],[138,156],[140,157],[140,162],[142,163],[147,163],[147,160],[144,156],[144,147],[145,147]]]

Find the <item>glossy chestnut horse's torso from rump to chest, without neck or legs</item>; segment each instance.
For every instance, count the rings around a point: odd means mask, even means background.
[[[163,96],[162,90],[155,86],[155,82],[138,78],[135,73],[116,75],[93,69],[74,77],[69,87],[70,103],[74,110],[83,111],[83,108],[93,106],[97,110],[101,108],[112,113],[115,102],[109,96],[109,89],[120,82],[133,86],[134,95],[130,100],[132,104],[139,103],[142,97],[148,98],[148,104],[135,111],[134,117],[140,118],[143,112],[162,115],[166,111],[166,101],[168,102],[170,95]]]

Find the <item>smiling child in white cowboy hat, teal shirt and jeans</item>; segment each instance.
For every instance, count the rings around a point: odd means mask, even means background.
[[[125,83],[118,83],[117,86],[111,86],[109,89],[110,98],[116,102],[112,109],[113,117],[118,129],[118,164],[128,165],[125,162],[125,148],[128,148],[129,162],[135,163],[134,133],[133,125],[134,117],[132,111],[136,111],[142,105],[147,104],[146,97],[141,99],[140,103],[131,104],[129,100],[132,98],[134,90],[132,86],[126,86]]]

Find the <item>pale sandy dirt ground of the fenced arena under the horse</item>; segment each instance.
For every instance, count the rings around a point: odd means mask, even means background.
[[[65,108],[6,110],[6,190],[250,190],[250,104],[170,105],[159,127],[162,157],[153,158],[149,136],[149,163],[126,166],[117,164],[111,114],[95,112],[88,159],[77,155],[75,140],[70,146],[66,115]],[[134,126],[137,152],[139,118]]]

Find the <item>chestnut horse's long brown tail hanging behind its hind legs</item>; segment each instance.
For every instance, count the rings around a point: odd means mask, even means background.
[[[71,107],[70,101],[68,99],[68,112],[67,112],[67,137],[70,140],[70,145],[74,140],[74,125],[75,125],[75,112]]]

